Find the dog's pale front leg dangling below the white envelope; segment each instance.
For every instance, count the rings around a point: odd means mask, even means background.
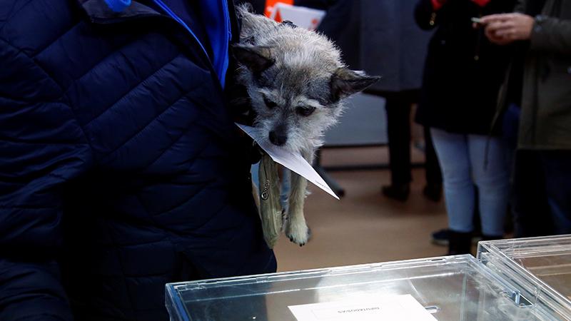
[[[313,163],[313,152],[303,153],[308,163]],[[308,181],[302,176],[291,172],[290,195],[288,198],[288,217],[285,224],[285,235],[300,246],[308,243],[310,230],[303,215],[303,204],[307,193]]]

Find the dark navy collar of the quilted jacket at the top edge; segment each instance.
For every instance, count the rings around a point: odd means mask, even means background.
[[[154,9],[145,6],[137,1],[131,1],[128,6],[121,12],[114,12],[107,6],[104,0],[77,0],[79,5],[84,9],[89,19],[94,24],[115,24],[118,22],[148,17],[161,16]]]

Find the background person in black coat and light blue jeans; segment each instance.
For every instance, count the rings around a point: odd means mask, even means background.
[[[415,9],[418,25],[435,29],[416,120],[431,128],[443,170],[450,255],[470,253],[476,202],[482,238],[504,233],[509,190],[505,150],[497,133],[487,134],[510,50],[487,41],[471,19],[510,12],[514,6],[510,0],[420,0]]]

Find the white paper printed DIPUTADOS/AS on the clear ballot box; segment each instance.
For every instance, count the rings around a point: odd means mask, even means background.
[[[412,295],[368,296],[288,307],[298,321],[436,321]]]

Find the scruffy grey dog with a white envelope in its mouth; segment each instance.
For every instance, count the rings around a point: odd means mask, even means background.
[[[238,7],[242,29],[233,47],[239,69],[236,80],[245,86],[256,114],[254,127],[276,146],[300,153],[313,162],[323,145],[323,131],[337,122],[343,98],[362,91],[378,77],[350,71],[339,50],[325,36],[290,23],[278,24]],[[305,178],[291,173],[285,210],[285,234],[304,245],[309,230],[303,216]]]

